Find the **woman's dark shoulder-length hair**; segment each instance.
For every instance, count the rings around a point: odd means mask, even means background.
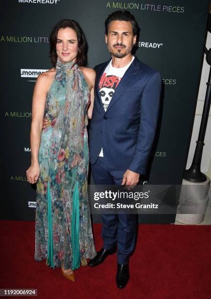
[[[65,19],[59,21],[52,29],[50,33],[50,60],[51,63],[55,66],[57,62],[57,54],[56,54],[56,43],[57,43],[57,34],[60,28],[67,28],[70,27],[73,29],[77,35],[78,39],[78,54],[76,57],[76,64],[78,66],[84,66],[87,63],[87,41],[85,35],[78,24],[78,22]]]

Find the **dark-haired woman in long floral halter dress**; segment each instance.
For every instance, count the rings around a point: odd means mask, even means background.
[[[84,67],[86,41],[77,22],[62,20],[50,35],[54,65],[41,74],[32,100],[30,183],[37,182],[35,260],[74,281],[73,270],[96,253],[88,201],[87,124],[94,70]],[[47,127],[42,131],[43,118]]]

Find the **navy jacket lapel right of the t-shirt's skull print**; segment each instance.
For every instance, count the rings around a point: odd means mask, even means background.
[[[121,97],[122,93],[130,86],[130,84],[136,80],[136,75],[140,71],[140,62],[138,58],[135,56],[134,61],[126,70],[124,76],[122,77],[121,81],[119,82],[117,89],[109,103],[109,106],[106,110],[106,113],[111,109],[112,106],[117,102],[117,100]],[[102,101],[101,101],[102,102]]]

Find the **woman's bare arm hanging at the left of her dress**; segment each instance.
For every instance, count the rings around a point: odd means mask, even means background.
[[[32,98],[32,120],[30,131],[31,166],[26,171],[27,179],[31,184],[36,183],[40,175],[38,153],[40,148],[48,85],[49,75],[47,73],[41,74],[37,78]]]

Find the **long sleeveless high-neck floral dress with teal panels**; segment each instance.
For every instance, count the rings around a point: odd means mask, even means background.
[[[88,201],[90,90],[77,64],[58,59],[39,149],[35,260],[77,269],[96,255]]]

